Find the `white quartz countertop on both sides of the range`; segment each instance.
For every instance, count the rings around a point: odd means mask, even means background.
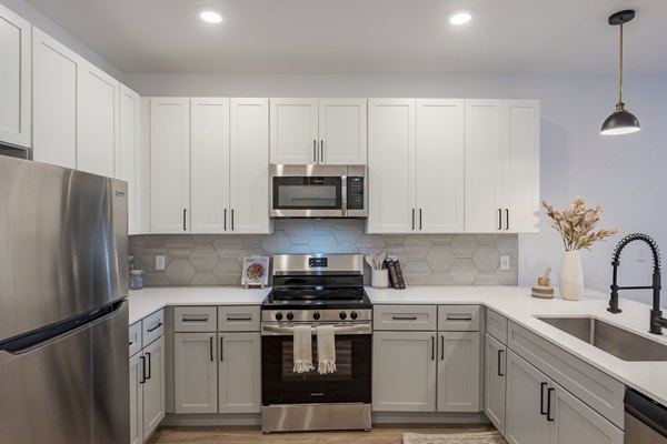
[[[270,289],[150,287],[130,292],[130,323],[166,305],[260,304]],[[406,290],[366,289],[374,304],[480,304],[539,334],[573,355],[600,369],[626,385],[667,405],[667,362],[626,362],[536,319],[536,316],[594,316],[667,344],[665,336],[648,333],[650,306],[620,299],[623,313],[607,312],[608,295],[585,291],[580,301],[530,296],[517,286],[410,286]]]

